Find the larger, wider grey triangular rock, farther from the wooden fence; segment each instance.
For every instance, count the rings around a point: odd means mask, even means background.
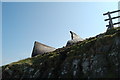
[[[32,52],[32,57],[38,55],[38,54],[44,54],[47,52],[52,52],[54,51],[55,48],[47,46],[45,44],[42,44],[40,42],[35,41],[34,43],[34,48],[33,48],[33,52]]]

